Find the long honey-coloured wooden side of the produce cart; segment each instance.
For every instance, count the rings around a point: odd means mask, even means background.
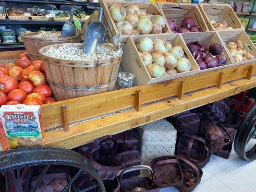
[[[22,51],[2,52],[0,60]],[[71,149],[256,87],[256,62],[41,106],[46,145]]]

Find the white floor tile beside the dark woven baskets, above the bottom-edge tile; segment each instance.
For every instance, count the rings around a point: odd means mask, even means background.
[[[229,159],[211,155],[210,161],[206,164],[205,168],[213,175],[216,175],[220,171],[232,166],[233,164],[234,162],[230,161]]]

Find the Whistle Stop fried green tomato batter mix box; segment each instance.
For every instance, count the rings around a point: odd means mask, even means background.
[[[44,145],[40,106],[3,105],[0,117],[11,148]]]

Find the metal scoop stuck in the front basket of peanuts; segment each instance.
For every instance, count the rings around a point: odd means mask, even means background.
[[[106,29],[101,23],[103,8],[99,9],[98,22],[89,24],[85,32],[84,53],[92,53],[97,49],[98,44],[105,42]]]

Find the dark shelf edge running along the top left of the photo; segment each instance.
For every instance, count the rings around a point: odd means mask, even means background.
[[[99,3],[65,1],[65,0],[0,0],[1,2],[22,2],[22,3],[44,3],[44,4],[61,4],[61,5],[81,5],[100,7]]]

